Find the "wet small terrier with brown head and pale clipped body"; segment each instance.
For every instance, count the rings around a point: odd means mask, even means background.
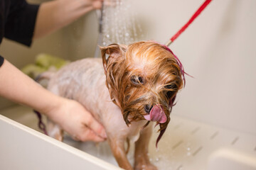
[[[182,64],[168,47],[152,41],[112,44],[101,52],[102,59],[86,58],[60,69],[50,77],[48,89],[82,103],[102,123],[120,167],[157,169],[147,154],[151,122],[160,126],[157,145],[183,87]],[[50,121],[48,128],[50,136],[63,139],[58,125]],[[135,142],[134,167],[127,159],[126,141]]]

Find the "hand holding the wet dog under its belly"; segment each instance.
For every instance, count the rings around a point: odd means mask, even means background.
[[[74,140],[102,142],[107,139],[102,125],[77,101],[60,98],[60,104],[47,115]]]

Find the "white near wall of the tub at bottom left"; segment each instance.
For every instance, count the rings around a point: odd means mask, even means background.
[[[36,117],[28,108],[12,108],[1,113],[11,114],[26,125],[36,125]],[[0,135],[0,169],[3,170],[119,169],[3,115],[0,115]]]

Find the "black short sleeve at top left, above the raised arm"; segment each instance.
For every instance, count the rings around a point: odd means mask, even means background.
[[[38,8],[38,5],[28,4],[24,0],[13,0],[5,24],[4,37],[30,46]]]

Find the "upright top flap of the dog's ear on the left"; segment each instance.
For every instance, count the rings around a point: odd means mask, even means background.
[[[107,47],[100,47],[102,53],[102,62],[105,72],[107,68],[113,62],[119,62],[119,60],[124,60],[124,55],[127,50],[126,45],[112,44]]]

